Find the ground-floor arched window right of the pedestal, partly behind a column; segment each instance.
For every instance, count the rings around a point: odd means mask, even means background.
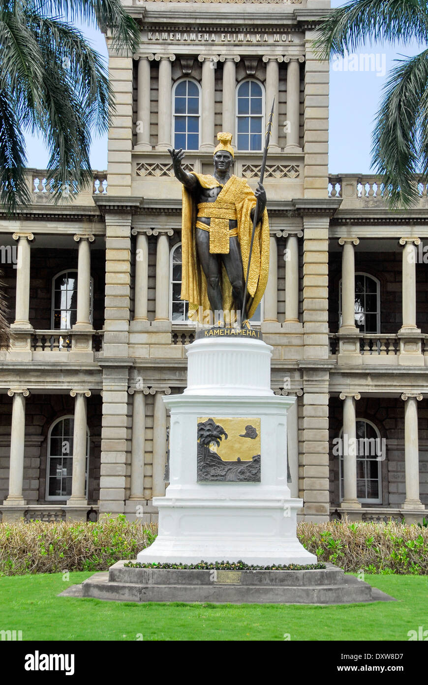
[[[342,449],[339,456],[340,501],[343,499],[343,453],[351,453],[340,431]],[[377,427],[366,419],[356,421],[357,497],[361,503],[382,503],[382,462],[385,459],[384,443]]]

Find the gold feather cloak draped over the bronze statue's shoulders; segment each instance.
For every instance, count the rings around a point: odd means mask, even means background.
[[[219,182],[213,176],[194,173],[202,188],[216,188]],[[256,206],[254,192],[245,179],[231,176],[222,190],[223,200],[235,203],[237,210],[238,239],[241,246],[244,278],[247,275],[248,257],[250,256],[250,243],[252,236],[251,210]],[[211,310],[206,290],[206,278],[198,259],[196,249],[195,224],[198,209],[192,193],[183,186],[183,214],[181,225],[182,241],[182,282],[181,299],[189,302],[189,319],[207,323],[203,312]],[[251,258],[250,275],[248,277],[248,293],[250,295],[250,308],[248,318],[256,311],[263,297],[269,272],[269,220],[267,210],[263,213],[261,221],[256,225],[254,245]],[[220,276],[222,289],[223,309],[230,312],[233,308],[232,286],[228,279],[226,269],[222,266]],[[200,307],[202,307],[202,319]],[[233,317],[233,314],[232,314]],[[235,320],[235,319],[231,319]]]

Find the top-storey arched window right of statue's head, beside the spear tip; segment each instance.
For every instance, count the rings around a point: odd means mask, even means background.
[[[237,149],[262,149],[264,121],[263,86],[252,79],[243,81],[237,88]]]

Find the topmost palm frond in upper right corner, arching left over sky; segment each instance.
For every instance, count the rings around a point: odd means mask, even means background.
[[[320,59],[343,57],[370,43],[419,44],[428,39],[427,2],[423,0],[353,0],[333,10],[317,27],[314,42]]]

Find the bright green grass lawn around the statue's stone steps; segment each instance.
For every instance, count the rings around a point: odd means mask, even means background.
[[[408,640],[428,628],[428,577],[368,575],[396,602],[347,606],[136,604],[57,597],[91,573],[0,577],[0,630],[23,640]],[[141,637],[142,636],[142,637]]]

